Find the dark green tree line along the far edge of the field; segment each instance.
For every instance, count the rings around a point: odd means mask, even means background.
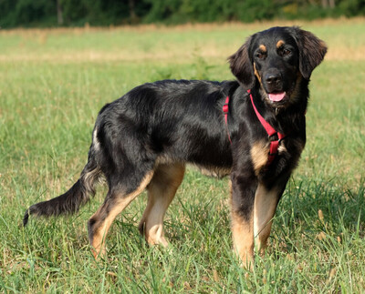
[[[253,22],[365,15],[365,0],[0,0],[0,27]]]

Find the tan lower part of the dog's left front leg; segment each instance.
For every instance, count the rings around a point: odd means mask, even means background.
[[[252,269],[254,262],[253,218],[243,218],[232,212],[232,237],[235,252],[246,269]]]

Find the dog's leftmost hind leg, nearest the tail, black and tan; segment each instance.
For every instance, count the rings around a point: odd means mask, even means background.
[[[152,177],[153,170],[141,177],[138,187],[129,188],[130,192],[125,192],[127,185],[123,186],[118,182],[117,185],[110,185],[110,190],[104,203],[98,211],[89,218],[88,222],[89,241],[93,255],[96,259],[99,255],[104,256],[106,253],[105,238],[107,237],[113,220],[134,198],[141,194],[144,188],[150,183]],[[132,180],[130,180],[130,182],[132,182]]]

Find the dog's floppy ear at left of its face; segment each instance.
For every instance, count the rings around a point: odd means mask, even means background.
[[[254,65],[251,56],[249,56],[252,39],[253,36],[250,36],[234,55],[228,57],[232,73],[245,89],[251,89],[255,86]]]

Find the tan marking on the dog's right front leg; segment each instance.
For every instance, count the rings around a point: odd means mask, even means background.
[[[279,190],[277,188],[267,190],[263,184],[258,184],[254,205],[254,236],[256,248],[261,253],[266,249],[278,198]]]

